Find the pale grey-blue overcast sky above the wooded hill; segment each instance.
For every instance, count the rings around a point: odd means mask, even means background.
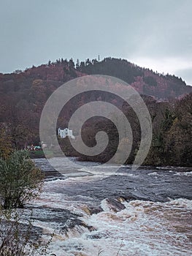
[[[192,85],[191,0],[0,0],[0,72],[107,56]]]

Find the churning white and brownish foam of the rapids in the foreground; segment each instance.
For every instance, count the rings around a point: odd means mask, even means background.
[[[49,252],[57,256],[78,255],[80,252],[90,256],[97,255],[99,250],[103,250],[101,255],[117,255],[119,248],[120,255],[124,256],[167,255],[167,252],[170,255],[191,255],[191,247],[185,235],[188,232],[185,217],[190,216],[191,200],[180,198],[167,203],[124,201],[122,203],[126,208],[117,213],[111,211],[109,202],[102,200],[104,211],[93,215],[82,210],[87,203],[77,202],[65,195],[46,192],[39,202],[45,203],[47,207],[79,211],[82,214],[80,219],[96,229],[90,232],[85,227],[74,227],[66,236],[59,231],[58,223],[50,225],[50,222],[35,222],[45,233],[52,233],[55,228],[55,238]],[[178,232],[177,227],[185,232]]]

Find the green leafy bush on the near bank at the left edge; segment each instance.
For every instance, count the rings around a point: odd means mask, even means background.
[[[23,204],[39,195],[41,170],[35,167],[27,151],[14,151],[0,158],[0,199],[4,208],[23,208]]]

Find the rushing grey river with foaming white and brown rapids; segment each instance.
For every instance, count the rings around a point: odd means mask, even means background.
[[[54,233],[57,256],[191,255],[192,168],[121,166],[115,173],[76,159],[35,159],[45,171],[33,225],[42,240]]]

